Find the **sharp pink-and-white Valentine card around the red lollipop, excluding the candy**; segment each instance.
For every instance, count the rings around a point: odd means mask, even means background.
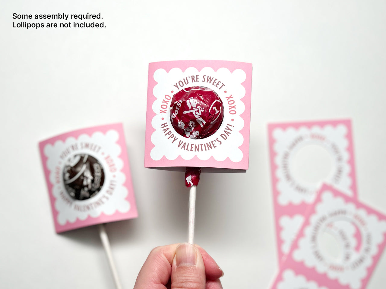
[[[217,60],[150,63],[145,167],[200,166],[247,170],[251,83],[250,63]],[[173,95],[193,86],[212,89],[223,103],[220,128],[207,138],[186,138],[171,123]]]

